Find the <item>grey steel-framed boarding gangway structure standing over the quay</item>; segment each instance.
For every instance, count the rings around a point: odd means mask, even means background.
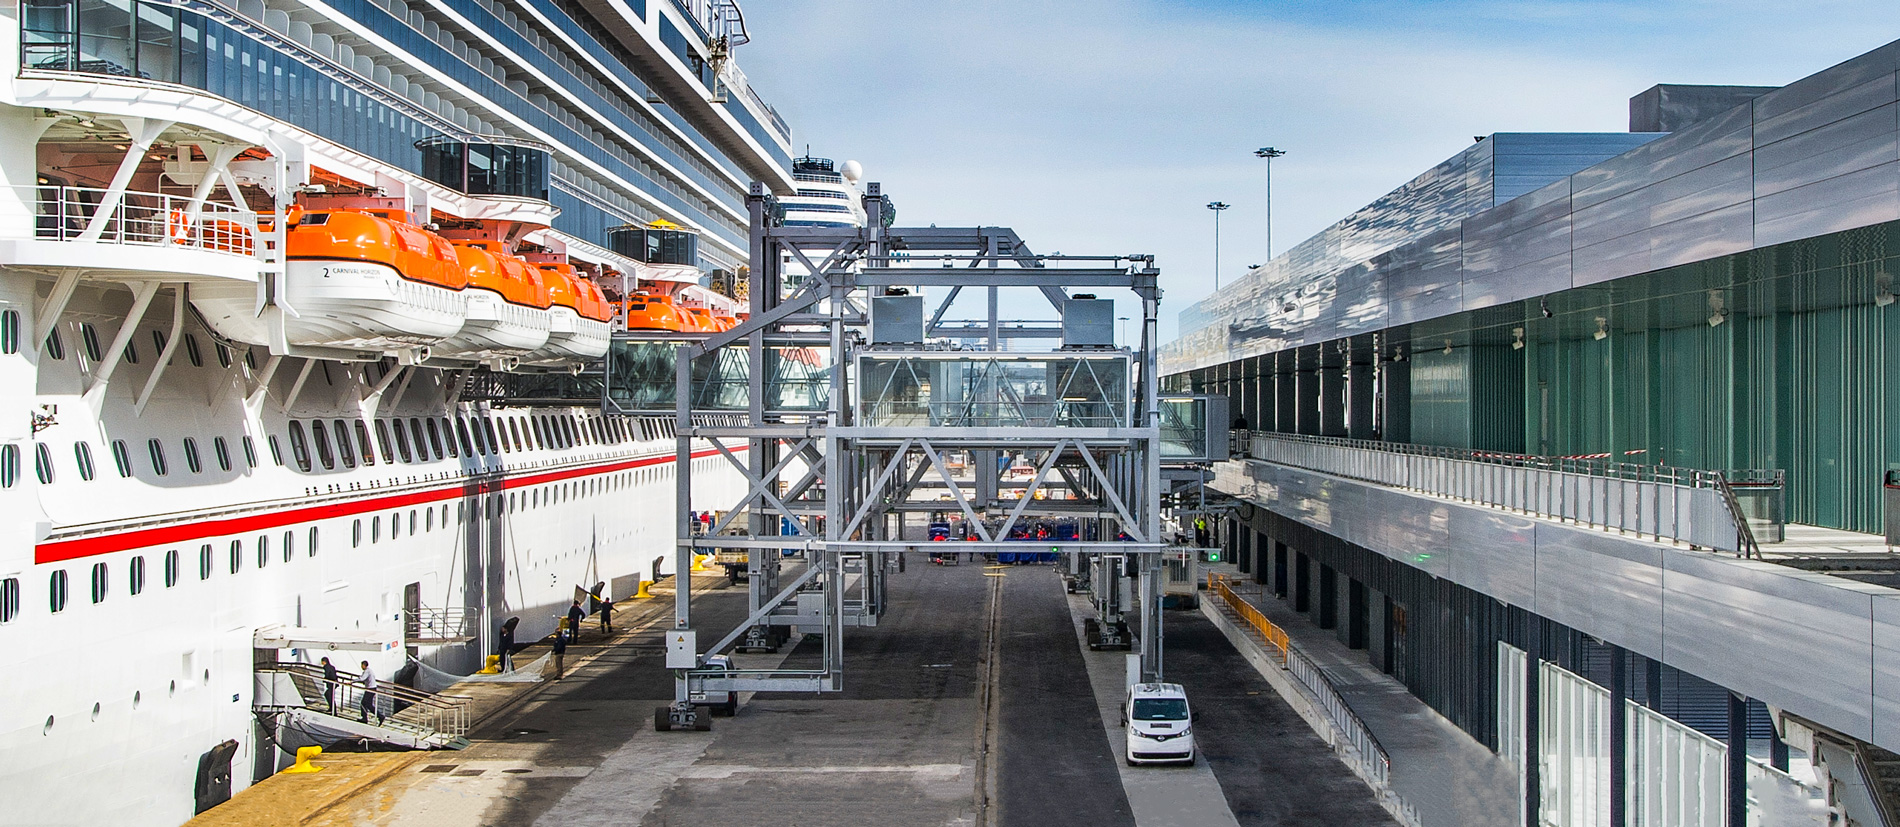
[[[676,692],[656,709],[661,730],[711,726],[694,703],[709,692],[842,690],[846,629],[878,622],[899,555],[944,542],[1079,555],[1072,570],[1115,574],[1094,578],[1094,629],[1138,652],[1144,681],[1161,675],[1163,464],[1212,441],[1206,411],[1186,416],[1195,433],[1182,433],[1184,409],[1165,416],[1165,405],[1205,399],[1159,394],[1153,257],[1037,255],[1001,226],[893,226],[876,183],[863,200],[864,226],[785,226],[754,184],[741,274],[750,316],[724,333],[644,337],[638,348],[676,356],[673,388],[608,388],[671,397],[674,570],[714,551],[747,555],[750,612],[724,637],[703,641],[690,589],[676,589]],[[1117,344],[1125,319],[1108,291],[1140,306],[1130,346]],[[1047,310],[1013,319],[1005,306]],[[1216,439],[1224,458],[1226,432]],[[695,449],[707,447],[745,473],[737,502],[694,490]],[[792,629],[823,639],[815,669],[709,660],[777,648]]]

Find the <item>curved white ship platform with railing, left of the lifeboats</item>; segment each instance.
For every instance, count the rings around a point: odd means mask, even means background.
[[[108,281],[256,281],[270,245],[228,203],[97,186],[13,186],[0,200],[0,266]]]

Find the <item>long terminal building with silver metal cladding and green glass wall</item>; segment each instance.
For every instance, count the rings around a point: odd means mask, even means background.
[[[1896,70],[1480,137],[1180,316],[1226,551],[1526,823],[1900,823]]]

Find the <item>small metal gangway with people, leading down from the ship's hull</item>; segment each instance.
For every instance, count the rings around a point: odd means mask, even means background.
[[[469,745],[467,698],[422,692],[386,681],[376,683],[374,694],[374,707],[384,719],[365,722],[359,719],[361,675],[338,671],[332,683],[323,677],[323,667],[314,664],[258,664],[253,709],[346,732],[352,740],[369,738],[410,749]]]

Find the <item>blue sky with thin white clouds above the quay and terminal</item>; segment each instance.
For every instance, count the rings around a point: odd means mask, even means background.
[[[1900,40],[1896,0],[752,0],[737,49],[798,148],[902,224],[1155,253],[1174,314],[1493,131],[1624,131],[1653,84],[1778,86]]]

